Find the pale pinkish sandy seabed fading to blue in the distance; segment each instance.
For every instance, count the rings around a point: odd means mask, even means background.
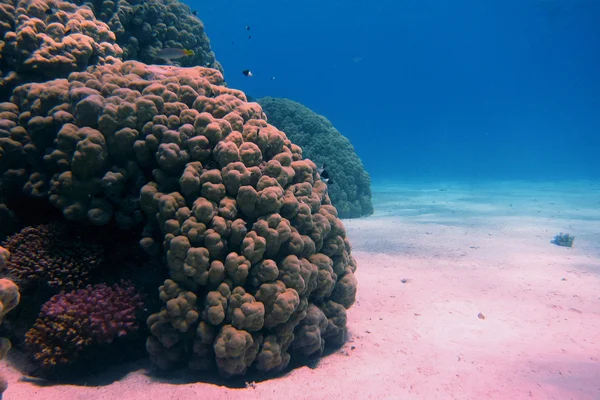
[[[4,400],[600,399],[600,182],[377,184],[373,200],[344,221],[349,340],[316,367],[240,389],[157,380],[147,360],[101,386],[4,365]]]

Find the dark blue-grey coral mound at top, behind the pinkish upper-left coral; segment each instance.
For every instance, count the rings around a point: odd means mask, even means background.
[[[215,60],[204,24],[178,0],[73,0],[88,5],[96,18],[106,22],[123,48],[124,60],[164,64],[157,58],[163,48],[192,50],[193,56],[178,60],[184,67],[209,67],[223,72]]]

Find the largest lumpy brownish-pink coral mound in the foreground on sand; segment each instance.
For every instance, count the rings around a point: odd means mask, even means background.
[[[279,371],[343,342],[356,263],[327,185],[220,72],[115,62],[22,85],[0,110],[5,181],[72,221],[143,224],[164,254],[157,365]]]

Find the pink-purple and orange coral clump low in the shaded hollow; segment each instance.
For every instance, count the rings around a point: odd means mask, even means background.
[[[42,373],[54,373],[76,363],[94,346],[136,332],[143,305],[141,295],[127,282],[63,292],[42,306],[25,344]]]

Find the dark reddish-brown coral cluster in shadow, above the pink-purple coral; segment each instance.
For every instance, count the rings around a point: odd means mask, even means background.
[[[59,222],[26,227],[8,237],[3,246],[11,257],[0,271],[23,292],[46,286],[56,292],[85,286],[105,257],[100,244],[74,238]]]

